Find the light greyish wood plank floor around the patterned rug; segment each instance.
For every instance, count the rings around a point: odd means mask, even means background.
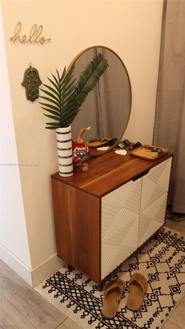
[[[167,219],[166,226],[185,235],[185,221],[176,223]],[[1,329],[81,328],[27,285],[3,262],[0,265]],[[179,328],[185,328],[185,296],[163,326],[163,329]]]

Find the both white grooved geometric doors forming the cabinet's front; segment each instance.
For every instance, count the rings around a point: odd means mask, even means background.
[[[165,222],[172,158],[101,199],[101,279]]]

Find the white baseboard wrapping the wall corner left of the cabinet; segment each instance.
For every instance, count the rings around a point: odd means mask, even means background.
[[[1,260],[32,288],[65,264],[57,254],[54,254],[38,266],[31,269],[2,245],[0,245],[0,255]]]

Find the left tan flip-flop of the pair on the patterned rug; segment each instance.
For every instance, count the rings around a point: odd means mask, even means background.
[[[106,286],[102,307],[103,316],[108,319],[112,319],[116,315],[118,303],[124,289],[125,282],[123,280],[116,279],[108,283]]]

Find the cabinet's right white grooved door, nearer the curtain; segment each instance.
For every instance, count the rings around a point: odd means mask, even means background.
[[[171,163],[169,158],[142,177],[138,247],[165,222]]]

